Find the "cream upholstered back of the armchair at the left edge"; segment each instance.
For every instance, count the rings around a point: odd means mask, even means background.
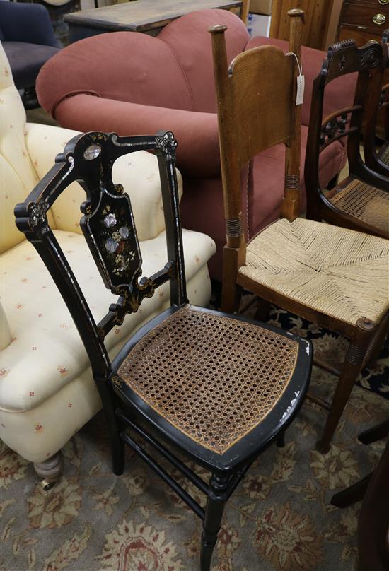
[[[0,47],[0,252],[24,240],[13,208],[35,187],[38,178],[25,148],[25,110],[3,47]]]

